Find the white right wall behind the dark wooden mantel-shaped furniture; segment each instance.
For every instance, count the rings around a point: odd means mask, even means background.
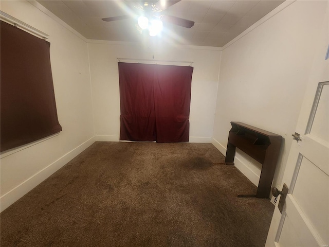
[[[325,9],[325,1],[294,2],[222,51],[212,143],[225,154],[230,121],[282,135],[274,185],[282,183]],[[238,151],[235,165],[258,185],[259,163]]]

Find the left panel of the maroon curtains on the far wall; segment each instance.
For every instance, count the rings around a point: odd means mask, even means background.
[[[120,140],[156,140],[154,78],[147,64],[119,63]]]

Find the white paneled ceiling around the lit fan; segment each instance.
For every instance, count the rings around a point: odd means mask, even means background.
[[[104,22],[104,17],[126,15],[137,1],[37,1],[87,39],[139,42],[140,34],[134,19]],[[139,2],[146,2],[139,1]],[[158,39],[181,45],[222,47],[264,15],[278,7],[281,0],[182,0],[161,14],[194,21],[192,28],[163,24]]]

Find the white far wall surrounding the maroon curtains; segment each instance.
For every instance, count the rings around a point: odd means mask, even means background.
[[[120,98],[117,58],[193,61],[190,142],[211,142],[221,51],[206,47],[151,44],[89,43],[95,134],[98,140],[119,140]],[[136,61],[128,61],[136,62]],[[141,63],[150,63],[142,61]],[[161,63],[161,62],[158,62]],[[162,64],[188,64],[167,62]]]

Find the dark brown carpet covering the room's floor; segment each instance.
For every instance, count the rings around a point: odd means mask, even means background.
[[[274,206],[211,144],[97,142],[1,214],[1,246],[264,246]]]

